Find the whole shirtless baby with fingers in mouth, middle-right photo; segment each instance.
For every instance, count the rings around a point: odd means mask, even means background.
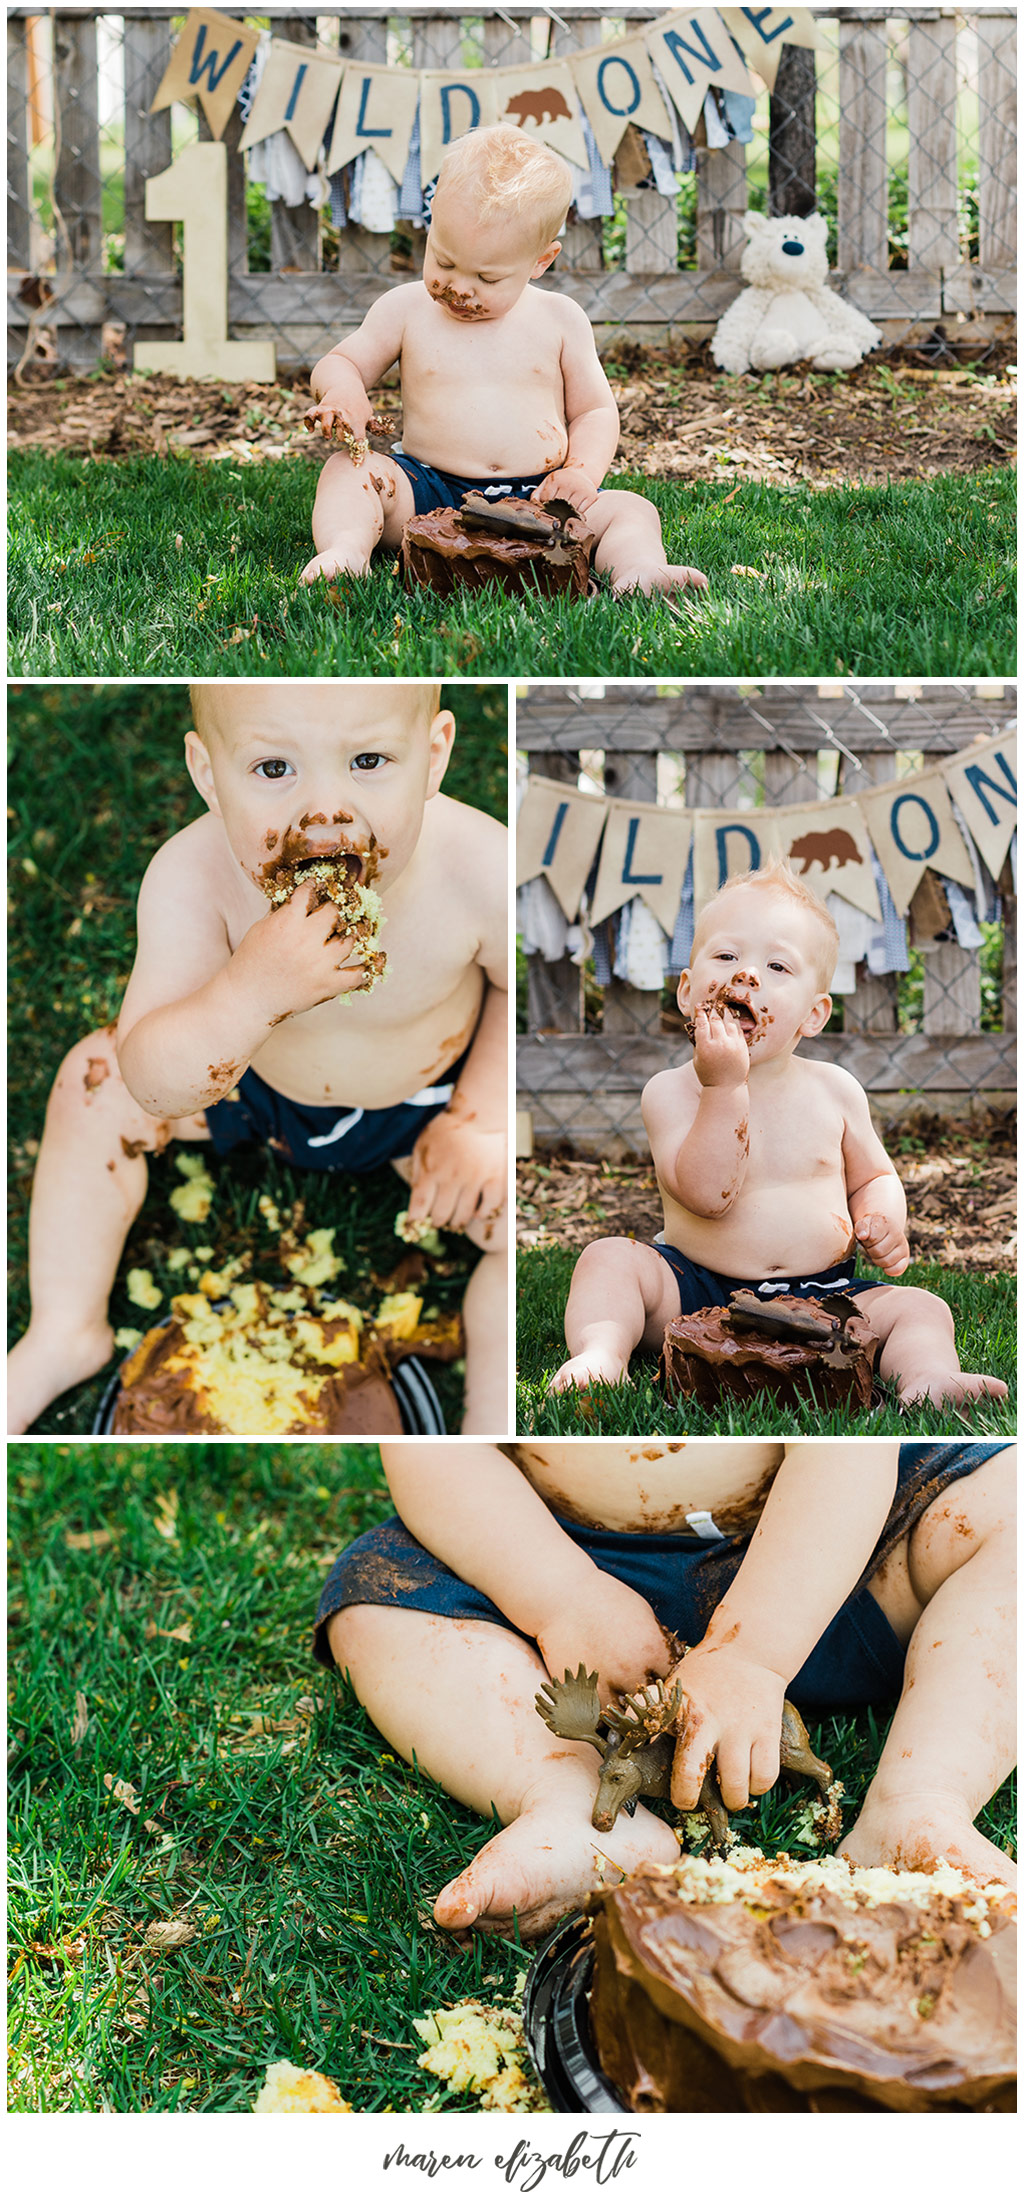
[[[622,1381],[638,1345],[662,1347],[671,1319],[746,1288],[858,1297],[900,1403],[1006,1394],[960,1372],[940,1297],[856,1279],[856,1246],[889,1279],[907,1270],[907,1199],[861,1082],[797,1058],[832,1012],[834,963],[830,912],[779,864],[733,877],[697,915],[678,992],[693,1060],[642,1096],[664,1235],[583,1250],[552,1389]]]

